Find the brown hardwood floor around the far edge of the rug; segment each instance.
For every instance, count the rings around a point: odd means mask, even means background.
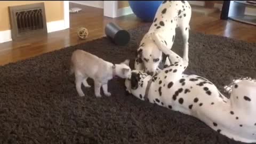
[[[46,52],[103,37],[105,36],[104,29],[108,22],[116,22],[117,25],[124,29],[131,29],[146,24],[140,21],[134,14],[112,19],[103,17],[103,9],[70,3],[71,7],[81,7],[83,10],[78,13],[70,13],[69,29],[49,33],[47,36],[36,36],[0,44],[0,65],[6,65],[10,62],[17,62]],[[209,16],[193,13],[190,28],[204,34],[256,42],[255,26],[231,20],[220,20],[219,15],[220,13],[214,13]],[[87,39],[79,39],[77,37],[77,29],[80,27],[85,27],[89,30]]]

